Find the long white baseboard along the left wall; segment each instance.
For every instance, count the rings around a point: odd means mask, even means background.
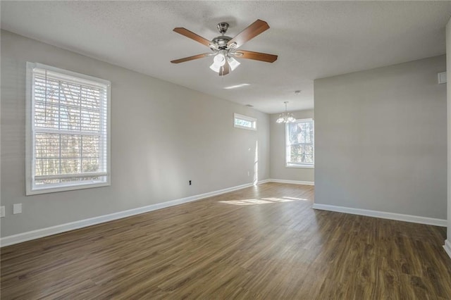
[[[1,237],[0,247],[30,241],[31,239],[39,239],[40,237],[48,237],[49,235],[56,235],[61,232],[67,232],[70,230],[80,229],[82,227],[97,225],[97,224],[109,222],[112,220],[118,220],[121,218],[130,217],[132,215],[139,215],[140,213],[156,211],[157,209],[166,208],[169,206],[175,206],[178,204],[184,204],[187,202],[196,201],[199,199],[204,199],[204,198],[216,196],[219,194],[224,194],[227,192],[233,192],[238,189],[245,189],[246,187],[252,187],[252,183],[248,183],[245,185],[238,185],[236,187],[228,187],[227,189],[219,189],[214,192],[208,192],[205,194],[199,194],[199,195],[195,195],[195,196],[189,196],[186,198],[175,199],[172,201],[166,201],[166,202],[162,202],[162,203],[152,204],[149,206],[132,208],[132,209],[129,209],[128,211],[119,211],[117,213],[110,213],[108,215],[100,215],[98,217],[89,218],[89,219],[85,219],[85,220],[79,220],[79,221],[70,222],[70,223],[66,223],[66,224],[46,227],[46,228],[42,228],[39,230],[32,230],[29,232],[20,233],[18,235],[10,235],[8,237]]]

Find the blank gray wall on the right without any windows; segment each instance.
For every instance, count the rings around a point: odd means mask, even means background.
[[[317,204],[446,218],[445,60],[314,81]]]

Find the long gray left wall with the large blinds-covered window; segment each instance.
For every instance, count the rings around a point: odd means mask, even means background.
[[[111,187],[25,196],[26,61],[111,80]],[[233,113],[256,117],[258,131],[234,128]],[[257,141],[258,177],[267,179],[268,122],[252,108],[2,31],[1,236],[252,182]],[[22,214],[12,215],[15,203]]]

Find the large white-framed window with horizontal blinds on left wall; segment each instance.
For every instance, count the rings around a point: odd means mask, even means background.
[[[27,63],[27,194],[110,184],[109,99],[109,81]]]

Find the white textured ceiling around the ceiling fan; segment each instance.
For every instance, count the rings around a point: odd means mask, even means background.
[[[1,1],[4,30],[266,113],[313,108],[316,78],[445,54],[450,15],[451,1]],[[275,63],[240,59],[224,77],[210,57],[170,63],[209,52],[174,27],[212,39],[226,21],[233,37],[257,19],[271,28],[241,48]]]

